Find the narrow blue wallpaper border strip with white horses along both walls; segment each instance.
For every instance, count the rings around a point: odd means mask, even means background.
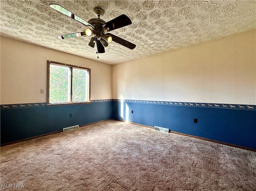
[[[101,103],[109,101],[121,102],[121,99],[95,99],[92,103]],[[152,100],[138,100],[138,99],[124,99],[126,103],[143,103],[169,106],[183,106],[183,107],[210,107],[220,109],[243,109],[256,111],[256,105],[238,105],[238,104],[224,104],[224,103],[195,103],[195,102],[176,102],[176,101],[152,101]],[[5,104],[1,105],[1,109],[18,109],[30,107],[46,107],[46,103],[20,103],[20,104]]]

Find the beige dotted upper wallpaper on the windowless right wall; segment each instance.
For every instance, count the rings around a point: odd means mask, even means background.
[[[113,99],[256,105],[255,34],[250,30],[114,65]]]

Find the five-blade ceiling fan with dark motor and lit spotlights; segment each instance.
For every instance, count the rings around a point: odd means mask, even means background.
[[[104,53],[105,52],[104,47],[107,47],[108,43],[110,43],[112,40],[130,49],[134,49],[136,47],[135,44],[128,42],[127,40],[124,40],[118,36],[115,36],[114,34],[107,33],[109,31],[132,24],[132,21],[130,20],[130,18],[124,14],[108,22],[105,22],[104,20],[100,19],[100,16],[104,15],[104,10],[100,7],[95,7],[93,11],[98,18],[92,18],[88,22],[86,22],[82,18],[76,16],[75,14],[66,10],[65,8],[63,8],[58,4],[50,4],[50,7],[87,26],[84,32],[76,32],[72,34],[64,34],[64,35],[57,36],[60,39],[67,39],[67,38],[73,38],[73,37],[85,36],[85,35],[92,36],[88,45],[94,48],[94,45],[96,43],[97,51],[98,51],[97,53]]]

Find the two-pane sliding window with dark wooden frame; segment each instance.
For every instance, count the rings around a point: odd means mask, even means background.
[[[90,68],[47,61],[47,104],[90,102]]]

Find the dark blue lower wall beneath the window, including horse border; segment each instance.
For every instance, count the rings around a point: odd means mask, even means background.
[[[70,117],[72,114],[72,117]],[[112,101],[46,106],[45,103],[1,105],[1,144],[112,119]]]

